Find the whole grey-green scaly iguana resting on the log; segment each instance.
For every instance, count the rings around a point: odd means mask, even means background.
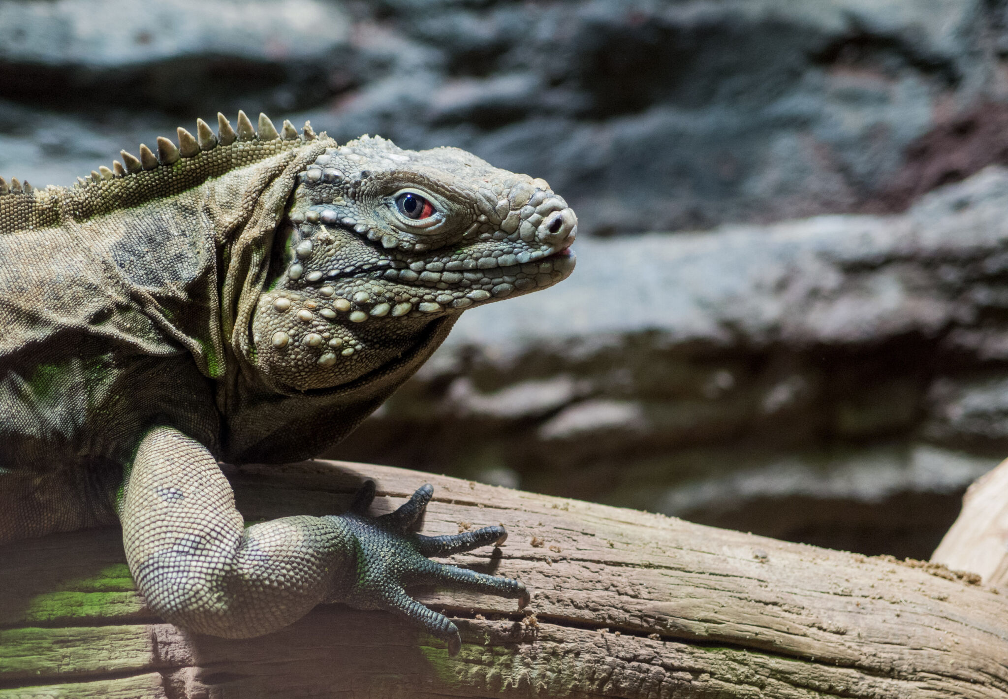
[[[254,636],[342,601],[454,655],[456,625],[403,586],[527,603],[517,580],[427,558],[503,528],[425,537],[430,485],[371,517],[367,482],[345,514],[245,529],[218,462],[339,442],[462,311],[570,274],[577,218],[457,148],[218,121],[71,189],[0,180],[0,540],[118,520],[148,606],[182,627]]]

